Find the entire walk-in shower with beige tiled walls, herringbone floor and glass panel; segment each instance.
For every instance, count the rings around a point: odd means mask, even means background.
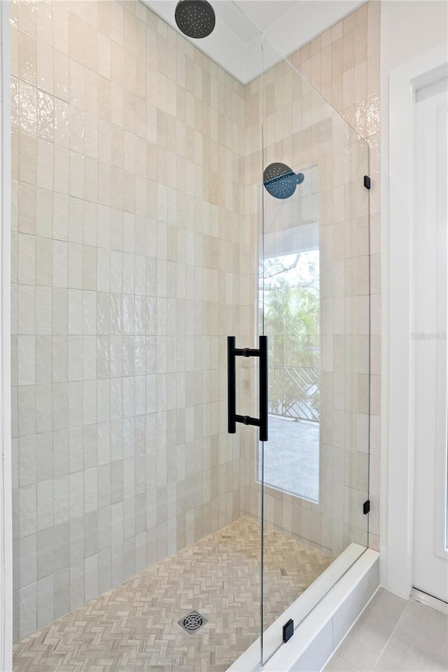
[[[368,545],[367,144],[211,4],[10,5],[16,671],[256,666]]]

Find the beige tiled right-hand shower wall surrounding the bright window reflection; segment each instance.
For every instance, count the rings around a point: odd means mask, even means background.
[[[367,496],[368,428],[370,412],[370,514],[369,543],[378,547],[379,492],[379,3],[368,2],[344,20],[304,45],[290,57],[318,92],[343,113],[360,137],[370,145],[367,162],[365,146],[353,143],[344,124],[325,102],[311,94],[307,83],[286,64],[279,64],[265,74],[265,165],[281,161],[300,169],[318,165],[318,200],[321,224],[321,274],[323,303],[321,309],[323,360],[321,382],[322,461],[324,479],[321,503],[314,505],[287,494],[266,489],[266,518],[271,524],[323,545],[338,554],[350,541],[365,544],[365,517],[360,504]],[[303,68],[302,68],[303,65]],[[343,74],[344,73],[344,74]],[[260,115],[260,78],[248,85],[246,92],[246,181],[249,195],[246,216],[260,216],[258,170],[261,164],[257,141]],[[337,98],[339,95],[340,98]],[[335,99],[333,99],[333,97]],[[342,107],[344,102],[344,107]],[[372,380],[369,391],[368,333],[368,253],[369,239],[365,190],[353,183],[362,180],[370,165],[370,304]],[[300,188],[297,189],[297,192]],[[337,191],[342,189],[342,199]],[[345,203],[344,192],[345,189]],[[295,202],[299,198],[295,195]],[[339,194],[340,196],[340,194]],[[337,197],[337,200],[333,200]],[[354,200],[353,200],[354,199]],[[279,240],[283,229],[294,220],[295,202],[276,202],[266,198],[265,228],[276,230]],[[339,212],[337,212],[339,204]],[[342,209],[341,209],[342,208]],[[351,222],[344,225],[347,219]],[[345,228],[344,228],[345,226]],[[364,235],[363,235],[364,234]],[[258,258],[258,241],[252,241],[252,255]],[[354,286],[344,287],[343,273],[337,267],[353,266]],[[334,263],[336,262],[336,263]],[[347,267],[348,268],[348,267]],[[325,282],[325,272],[335,269],[335,285]],[[328,280],[328,274],[327,274]],[[342,280],[342,285],[341,285]],[[366,285],[367,281],[367,285]],[[359,288],[358,288],[359,285]],[[253,283],[255,287],[256,284]],[[342,298],[342,301],[337,300]],[[336,300],[335,300],[336,299]],[[255,296],[254,296],[255,300]],[[334,304],[333,304],[334,302]],[[331,312],[332,311],[332,312]],[[341,323],[342,319],[342,323]],[[333,341],[333,335],[337,337]],[[356,335],[356,339],[347,339]],[[330,349],[329,349],[330,348]],[[341,349],[342,348],[342,349]],[[331,351],[330,351],[331,350]],[[349,357],[341,355],[348,352]],[[333,375],[337,372],[337,375]],[[343,373],[343,376],[339,375]],[[355,376],[351,376],[355,374]],[[344,378],[346,378],[344,382]],[[342,384],[342,387],[341,387]],[[344,391],[345,385],[345,391]],[[369,409],[370,393],[370,409]],[[345,395],[345,402],[344,402]],[[341,405],[342,399],[342,405]],[[326,409],[325,409],[326,406]],[[334,418],[333,412],[335,411]],[[342,422],[342,426],[340,423]],[[244,484],[241,501],[252,515],[259,511],[259,489],[255,482],[256,450],[253,440],[244,442]],[[326,479],[326,481],[325,481]],[[344,482],[342,489],[340,484]]]

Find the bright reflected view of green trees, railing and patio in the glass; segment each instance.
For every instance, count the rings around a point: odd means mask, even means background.
[[[317,225],[313,229],[318,237]],[[318,502],[318,248],[266,258],[264,301],[265,333],[269,336],[265,484]],[[260,461],[258,470],[261,480]]]

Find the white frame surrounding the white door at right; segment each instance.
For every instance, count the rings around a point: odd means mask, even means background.
[[[388,167],[381,176],[384,224],[384,360],[381,398],[381,584],[409,597],[413,577],[414,426],[412,409],[412,286],[414,244],[415,91],[440,79],[448,69],[447,45],[391,71],[388,82],[388,138],[381,151]],[[388,144],[388,147],[387,147]]]

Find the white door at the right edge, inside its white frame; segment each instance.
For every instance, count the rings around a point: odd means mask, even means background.
[[[447,80],[417,92],[414,233],[414,587],[448,602]]]

